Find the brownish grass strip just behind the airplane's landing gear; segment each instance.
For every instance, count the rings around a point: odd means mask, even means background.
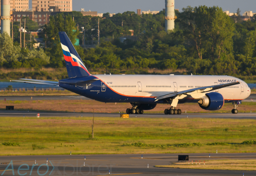
[[[125,113],[127,108],[132,107],[130,103],[102,103],[94,100],[0,100],[0,109],[5,106],[14,106],[15,110],[40,110],[40,111],[62,111],[62,112],[94,112],[103,113]],[[165,108],[170,108],[167,104],[158,104],[152,110],[144,111],[144,113],[164,113]],[[225,103],[223,108],[218,111],[207,111],[199,107],[197,103],[178,104],[182,113],[231,113],[233,109],[232,103]],[[243,102],[238,105],[238,112],[256,112],[256,102]]]

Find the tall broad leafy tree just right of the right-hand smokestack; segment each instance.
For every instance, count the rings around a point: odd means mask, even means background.
[[[219,7],[199,6],[183,8],[178,16],[180,28],[194,46],[199,59],[220,58],[233,52],[233,21]]]

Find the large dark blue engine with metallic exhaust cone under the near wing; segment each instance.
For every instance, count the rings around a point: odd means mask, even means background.
[[[206,93],[201,100],[198,100],[198,104],[202,109],[216,111],[223,107],[224,98],[218,92]]]

